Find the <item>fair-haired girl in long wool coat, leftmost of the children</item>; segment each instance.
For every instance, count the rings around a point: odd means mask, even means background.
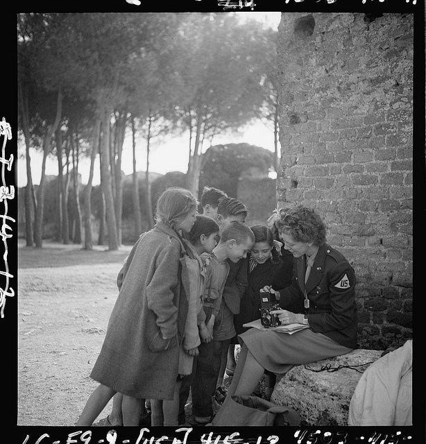
[[[139,425],[140,399],[173,400],[187,318],[187,250],[182,232],[194,225],[190,191],[166,189],[155,228],[133,248],[91,377],[99,386],[76,425],[92,425],[115,393],[123,394],[123,425]]]

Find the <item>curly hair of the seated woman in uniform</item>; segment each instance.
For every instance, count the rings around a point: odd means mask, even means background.
[[[313,242],[315,245],[325,244],[325,223],[318,213],[304,205],[280,212],[280,219],[276,222],[281,232],[290,234],[299,242]]]

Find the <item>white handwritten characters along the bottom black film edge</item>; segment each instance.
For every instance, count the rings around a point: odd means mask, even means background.
[[[283,429],[284,430],[284,429]],[[171,441],[171,444],[188,444],[188,437],[191,433],[192,428],[191,427],[180,427],[175,430],[176,433],[183,432],[183,436],[181,436],[182,439],[173,438],[173,441]],[[122,431],[120,431],[122,432]],[[150,430],[147,428],[140,429],[139,436],[137,436],[137,439],[134,444],[160,444],[162,441],[169,441],[170,438],[168,436],[161,436],[160,438],[155,438],[155,436],[144,436],[144,434],[149,433]],[[394,431],[393,433],[380,433],[380,432],[373,432],[369,437],[364,436],[361,434],[361,436],[358,436],[355,438],[356,441],[359,441],[359,443],[366,443],[366,444],[397,444],[402,441],[409,441],[411,440],[412,436],[409,434],[409,431],[407,431],[408,434],[403,436],[401,431]],[[124,434],[124,432],[123,432]],[[37,438],[37,441],[34,443],[29,441],[30,436],[27,435],[22,444],[76,444],[76,443],[84,443],[89,444],[92,441],[92,430],[86,430],[83,432],[83,430],[78,430],[77,432],[71,432],[67,435],[67,441],[46,441],[47,438],[50,438],[49,434],[45,433],[42,434],[39,438]],[[296,432],[293,434],[293,438],[296,441],[291,441],[288,437],[285,439],[286,444],[346,444],[348,441],[346,441],[346,438],[348,438],[348,433],[344,431],[335,431],[334,432],[328,432],[328,431],[322,431],[320,429],[315,429],[314,431],[309,432],[309,430],[303,430],[303,429],[296,429]],[[354,437],[352,436],[352,439]],[[102,443],[109,443],[109,444],[133,444],[130,442],[129,439],[125,438],[122,441],[119,441],[118,433],[114,429],[108,430],[108,432],[105,435],[104,439],[99,438],[93,438],[92,444],[102,444]],[[221,435],[217,435],[215,438],[213,438],[213,432],[210,432],[209,434],[203,434],[201,436],[200,444],[247,444],[244,443],[243,438],[239,438],[239,432],[234,432],[230,435],[226,435],[223,438],[221,438]],[[280,441],[280,437],[276,435],[270,435],[268,438],[266,438],[266,441],[268,444],[278,444]],[[189,443],[192,443],[193,441],[189,441]],[[253,442],[253,438],[250,438],[250,442]],[[353,441],[350,441],[353,442]],[[256,444],[264,443],[264,439],[262,436],[259,436],[257,438]],[[164,443],[165,444],[165,443]],[[407,443],[408,444],[408,443]]]

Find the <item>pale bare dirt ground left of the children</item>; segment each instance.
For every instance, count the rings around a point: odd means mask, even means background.
[[[86,251],[46,241],[35,249],[19,242],[18,425],[72,426],[78,419],[97,386],[89,375],[130,249]]]

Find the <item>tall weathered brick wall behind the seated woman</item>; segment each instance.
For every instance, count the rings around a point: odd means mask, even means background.
[[[413,18],[282,13],[277,200],[323,216],[357,274],[359,346],[411,338]]]

